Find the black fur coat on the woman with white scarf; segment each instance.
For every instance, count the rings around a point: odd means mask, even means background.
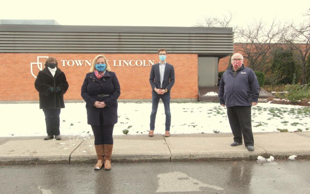
[[[40,109],[64,108],[64,94],[67,92],[69,84],[64,72],[58,67],[54,76],[48,70],[48,67],[39,71],[34,87],[39,92]],[[60,91],[52,93],[48,90],[51,87],[59,87]]]

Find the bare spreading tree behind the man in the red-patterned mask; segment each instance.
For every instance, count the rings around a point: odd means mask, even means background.
[[[254,20],[246,27],[235,29],[235,51],[243,53],[253,70],[264,71],[272,61],[269,53],[281,43],[283,26],[276,19],[271,24]]]

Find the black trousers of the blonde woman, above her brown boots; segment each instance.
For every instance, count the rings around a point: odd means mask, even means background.
[[[100,125],[91,125],[95,136],[95,145],[113,144],[114,124],[103,125],[103,117],[100,113]]]

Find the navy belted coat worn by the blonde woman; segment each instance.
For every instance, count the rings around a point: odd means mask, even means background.
[[[100,80],[95,73],[87,73],[81,88],[81,96],[86,102],[87,124],[100,125],[100,112],[103,125],[116,124],[117,98],[120,94],[121,88],[114,72],[106,71]],[[96,108],[96,101],[104,102],[107,106]]]

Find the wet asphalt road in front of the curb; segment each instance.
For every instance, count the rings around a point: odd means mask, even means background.
[[[310,193],[310,161],[194,161],[0,166],[0,193]]]

